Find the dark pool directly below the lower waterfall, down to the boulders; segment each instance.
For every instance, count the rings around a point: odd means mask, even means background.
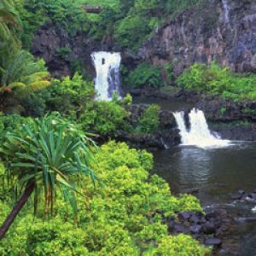
[[[204,150],[177,147],[154,153],[154,172],[174,193],[198,189],[204,203],[228,201],[238,189],[256,189],[256,144]]]

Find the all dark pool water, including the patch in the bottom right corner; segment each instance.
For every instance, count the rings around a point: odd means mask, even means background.
[[[236,216],[256,217],[252,205],[232,204],[238,189],[256,189],[256,143],[236,143],[230,148],[202,149],[180,146],[154,153],[154,173],[164,177],[172,193],[196,191],[203,206],[225,207]],[[230,238],[239,256],[256,255],[256,223],[238,221]],[[233,255],[233,254],[220,254]],[[235,254],[234,254],[235,255]]]

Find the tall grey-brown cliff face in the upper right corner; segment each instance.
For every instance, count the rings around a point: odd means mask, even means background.
[[[218,61],[236,72],[256,72],[256,2],[205,0],[160,27],[137,56],[177,76],[194,62]]]

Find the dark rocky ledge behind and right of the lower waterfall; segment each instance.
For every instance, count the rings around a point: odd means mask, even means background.
[[[232,102],[218,96],[209,96],[195,91],[177,90],[165,94],[159,90],[131,90],[132,96],[146,96],[161,100],[179,99],[204,111],[211,131],[216,131],[222,138],[233,141],[256,141],[256,102]],[[189,109],[184,108],[188,119]],[[172,111],[167,116],[172,115]],[[167,117],[166,116],[166,117]],[[168,117],[167,117],[168,118]],[[172,126],[176,126],[175,120]],[[172,131],[171,131],[172,132]]]

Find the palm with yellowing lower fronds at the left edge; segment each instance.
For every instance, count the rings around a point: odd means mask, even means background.
[[[9,105],[14,108],[20,97],[48,87],[48,79],[44,61],[35,61],[27,51],[6,56],[0,67],[0,111],[5,111]]]

